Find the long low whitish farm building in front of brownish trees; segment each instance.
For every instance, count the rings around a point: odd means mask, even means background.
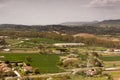
[[[83,46],[84,43],[55,43],[54,46],[58,47],[70,47],[70,46]]]

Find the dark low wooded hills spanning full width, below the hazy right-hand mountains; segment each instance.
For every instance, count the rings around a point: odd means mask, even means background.
[[[98,25],[81,25],[81,26],[68,26],[68,25],[15,25],[15,24],[2,24],[0,25],[0,31],[58,31],[66,34],[77,33],[90,33],[90,34],[110,34],[119,35],[120,27],[100,27]]]

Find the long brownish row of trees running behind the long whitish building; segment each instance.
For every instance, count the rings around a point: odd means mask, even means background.
[[[120,41],[110,41],[98,38],[84,38],[84,37],[73,37],[72,35],[60,34],[56,32],[30,32],[30,31],[2,31],[2,36],[10,36],[12,38],[18,37],[29,37],[29,38],[49,38],[64,42],[83,42],[90,46],[103,46],[110,48],[120,48]]]

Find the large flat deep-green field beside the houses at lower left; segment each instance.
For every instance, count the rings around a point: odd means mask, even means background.
[[[39,53],[0,53],[0,56],[5,56],[4,59],[1,59],[3,61],[9,60],[9,61],[24,61],[26,56],[31,57],[31,66],[34,68],[39,68],[40,73],[56,73],[61,72],[60,68],[57,67],[57,63],[59,61],[59,56],[56,54],[45,54],[41,55]]]

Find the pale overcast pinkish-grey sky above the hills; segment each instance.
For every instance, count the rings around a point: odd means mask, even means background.
[[[0,24],[120,19],[120,0],[0,0]]]

